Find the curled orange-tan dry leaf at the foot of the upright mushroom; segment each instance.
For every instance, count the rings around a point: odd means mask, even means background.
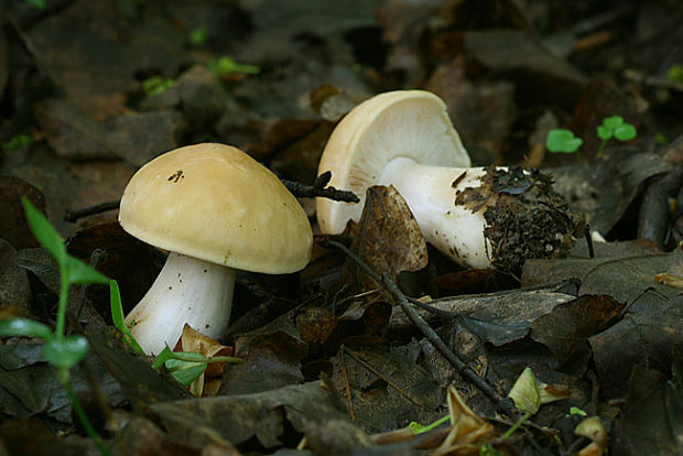
[[[232,348],[218,344],[208,336],[193,329],[188,324],[183,327],[183,334],[173,351],[194,351],[207,358],[214,356],[232,356]],[[220,387],[220,377],[226,362],[209,362],[202,376],[192,382],[189,392],[194,395],[216,395]]]

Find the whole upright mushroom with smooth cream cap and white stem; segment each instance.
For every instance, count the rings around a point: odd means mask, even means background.
[[[236,270],[303,269],[308,218],[280,180],[237,148],[188,145],[142,166],[128,183],[121,227],[167,250],[155,282],[126,323],[143,350],[175,345],[187,323],[218,337],[230,318]]]

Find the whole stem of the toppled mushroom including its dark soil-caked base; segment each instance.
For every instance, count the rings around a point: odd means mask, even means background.
[[[390,161],[378,178],[393,185],[426,241],[456,263],[519,273],[529,258],[565,254],[583,220],[552,178],[520,167],[448,167]]]

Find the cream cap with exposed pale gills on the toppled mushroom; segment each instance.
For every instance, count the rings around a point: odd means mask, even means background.
[[[366,188],[378,184],[384,166],[398,158],[438,166],[470,165],[446,105],[425,90],[397,90],[377,95],[346,115],[335,128],[318,165],[332,172],[329,185],[358,195],[360,204],[317,198],[323,232],[339,232],[357,220]]]

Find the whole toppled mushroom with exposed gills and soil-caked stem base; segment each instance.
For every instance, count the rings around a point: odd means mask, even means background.
[[[518,272],[527,258],[572,246],[581,222],[549,176],[469,166],[441,98],[424,90],[377,95],[342,119],[323,151],[318,174],[330,171],[329,185],[355,192],[360,204],[317,198],[321,230],[343,231],[360,217],[368,187],[393,185],[425,239],[460,265]]]

